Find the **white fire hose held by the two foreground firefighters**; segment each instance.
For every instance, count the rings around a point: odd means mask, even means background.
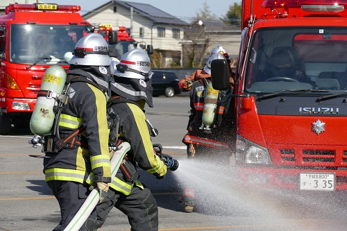
[[[113,154],[110,164],[111,164],[111,179],[115,178],[116,173],[121,165],[121,161],[124,158],[124,155],[130,150],[130,144],[128,142],[123,142],[119,145],[119,149]],[[92,213],[94,207],[96,207],[99,202],[99,189],[96,187],[90,192],[90,195],[87,197],[83,205],[78,212],[71,220],[69,225],[65,228],[64,231],[78,231],[83,223],[87,220],[88,216]]]

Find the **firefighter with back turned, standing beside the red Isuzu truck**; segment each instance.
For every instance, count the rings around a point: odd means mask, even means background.
[[[233,92],[234,81],[231,78],[231,74],[230,88],[219,92],[219,103],[216,105],[216,117],[214,117],[212,130],[206,132],[201,129],[206,89],[211,80],[210,67],[212,60],[215,59],[225,59],[225,56],[222,52],[213,54],[203,68],[206,74],[200,74],[198,76],[198,80],[193,83],[189,92],[191,114],[189,115],[187,135],[183,137],[183,143],[187,145],[188,158],[194,158],[196,154],[200,158],[212,157],[214,153],[219,155],[219,153],[228,150],[230,147],[232,138],[229,135],[231,121],[226,115],[230,114],[230,110],[233,108],[230,94]],[[185,189],[183,198],[185,201],[185,212],[193,212],[195,206],[194,189]]]

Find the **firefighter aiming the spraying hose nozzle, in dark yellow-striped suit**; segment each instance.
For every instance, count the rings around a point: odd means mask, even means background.
[[[119,116],[119,139],[130,144],[123,164],[110,185],[108,199],[96,206],[98,226],[105,222],[112,207],[128,216],[133,231],[158,230],[158,206],[151,191],[139,181],[136,166],[163,178],[167,166],[153,151],[149,128],[144,115],[147,103],[153,108],[151,61],[142,49],[125,53],[114,72],[109,107]]]

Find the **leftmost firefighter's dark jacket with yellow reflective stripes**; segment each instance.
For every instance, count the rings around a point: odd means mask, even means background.
[[[69,135],[83,126],[85,130],[80,135],[87,141],[88,148],[63,148],[51,158],[44,158],[47,159],[44,160],[46,181],[90,183],[88,175],[92,172],[94,181],[111,182],[105,95],[85,82],[71,83],[68,95],[67,104],[62,108],[59,133]]]

